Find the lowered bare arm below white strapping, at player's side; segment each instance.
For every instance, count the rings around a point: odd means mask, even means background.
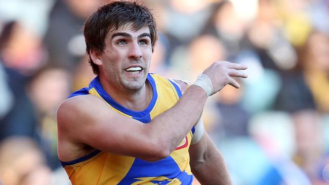
[[[190,146],[189,153],[192,173],[201,184],[232,184],[224,159],[207,132]]]

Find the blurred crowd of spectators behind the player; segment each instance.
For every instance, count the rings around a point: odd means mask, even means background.
[[[0,1],[0,184],[70,184],[56,109],[95,77],[81,28],[108,2]],[[203,115],[234,184],[329,184],[329,0],[143,2],[159,29],[150,72],[249,67]]]

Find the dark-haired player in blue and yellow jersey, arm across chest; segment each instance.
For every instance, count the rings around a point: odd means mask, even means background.
[[[149,74],[156,24],[132,2],[101,7],[84,34],[98,76],[57,111],[58,155],[72,184],[191,184],[193,175],[231,184],[198,120],[207,97],[238,88],[232,77],[246,77],[246,67],[215,62],[188,88]]]

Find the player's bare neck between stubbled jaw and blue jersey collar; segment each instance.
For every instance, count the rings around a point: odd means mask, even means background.
[[[107,94],[121,106],[133,110],[143,111],[150,104],[153,96],[152,87],[146,80],[144,86],[139,90],[128,90],[110,83],[104,76],[99,80]]]

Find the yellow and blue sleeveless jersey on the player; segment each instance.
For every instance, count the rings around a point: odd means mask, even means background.
[[[182,96],[180,87],[169,79],[148,74],[147,81],[153,89],[153,97],[149,106],[141,112],[129,110],[115,102],[100,84],[99,77],[91,81],[89,87],[73,92],[70,97],[97,96],[118,114],[147,124],[173,107]],[[169,157],[156,162],[96,150],[88,156],[61,163],[73,185],[191,184],[193,175],[188,149],[193,132],[194,127]]]

